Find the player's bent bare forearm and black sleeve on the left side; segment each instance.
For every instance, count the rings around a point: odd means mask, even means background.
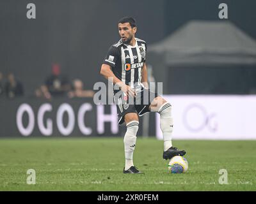
[[[113,82],[113,84],[118,85],[120,89],[127,95],[134,97],[135,92],[129,85],[126,85],[119,78],[115,76],[112,71],[112,68],[115,68],[116,62],[118,59],[118,50],[117,48],[111,46],[108,50],[108,54],[100,68],[100,75],[104,76],[106,79]]]

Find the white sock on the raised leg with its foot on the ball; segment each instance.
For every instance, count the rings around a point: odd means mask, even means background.
[[[164,137],[164,151],[166,151],[172,147],[172,105],[166,102],[159,108],[158,112],[160,114],[160,128]]]

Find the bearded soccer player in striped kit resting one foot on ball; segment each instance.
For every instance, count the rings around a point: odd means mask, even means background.
[[[186,152],[172,146],[172,105],[148,89],[145,63],[147,43],[135,38],[137,26],[134,18],[120,19],[118,31],[121,39],[109,48],[100,74],[114,84],[118,124],[125,122],[127,127],[124,136],[125,167],[123,172],[141,173],[134,166],[132,159],[139,128],[139,116],[144,113],[158,112],[160,114],[160,127],[164,138],[163,159],[184,156]]]

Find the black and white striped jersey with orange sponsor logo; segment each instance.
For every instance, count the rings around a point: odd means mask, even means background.
[[[112,45],[103,64],[111,66],[114,75],[125,84],[133,87],[141,84],[141,71],[146,61],[147,43],[135,38],[134,46],[127,45],[122,39]]]

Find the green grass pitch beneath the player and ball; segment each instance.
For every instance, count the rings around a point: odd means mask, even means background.
[[[138,137],[127,175],[123,138],[21,138],[0,140],[0,191],[255,191],[256,141],[173,141],[185,149],[188,172],[168,173],[163,141]],[[36,184],[28,185],[28,169]],[[228,184],[219,184],[220,169]]]

